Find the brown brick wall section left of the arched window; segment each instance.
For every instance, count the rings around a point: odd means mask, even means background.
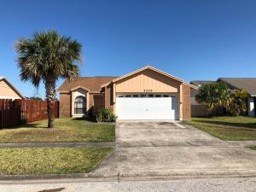
[[[71,116],[71,95],[69,93],[60,94],[60,118]]]

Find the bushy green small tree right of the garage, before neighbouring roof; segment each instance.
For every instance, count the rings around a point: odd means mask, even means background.
[[[228,108],[230,90],[226,84],[221,82],[203,84],[199,88],[199,93],[195,96],[195,100],[210,110],[219,107]]]

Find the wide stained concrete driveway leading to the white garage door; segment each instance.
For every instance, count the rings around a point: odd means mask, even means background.
[[[237,147],[190,125],[123,121],[116,125],[116,149],[93,174],[156,176],[254,174],[256,151]]]

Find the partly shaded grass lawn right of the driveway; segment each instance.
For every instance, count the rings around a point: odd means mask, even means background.
[[[256,118],[242,116],[192,118],[187,123],[223,140],[256,140]]]

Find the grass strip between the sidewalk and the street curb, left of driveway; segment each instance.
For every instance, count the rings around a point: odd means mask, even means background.
[[[112,148],[0,148],[0,174],[90,172]]]

